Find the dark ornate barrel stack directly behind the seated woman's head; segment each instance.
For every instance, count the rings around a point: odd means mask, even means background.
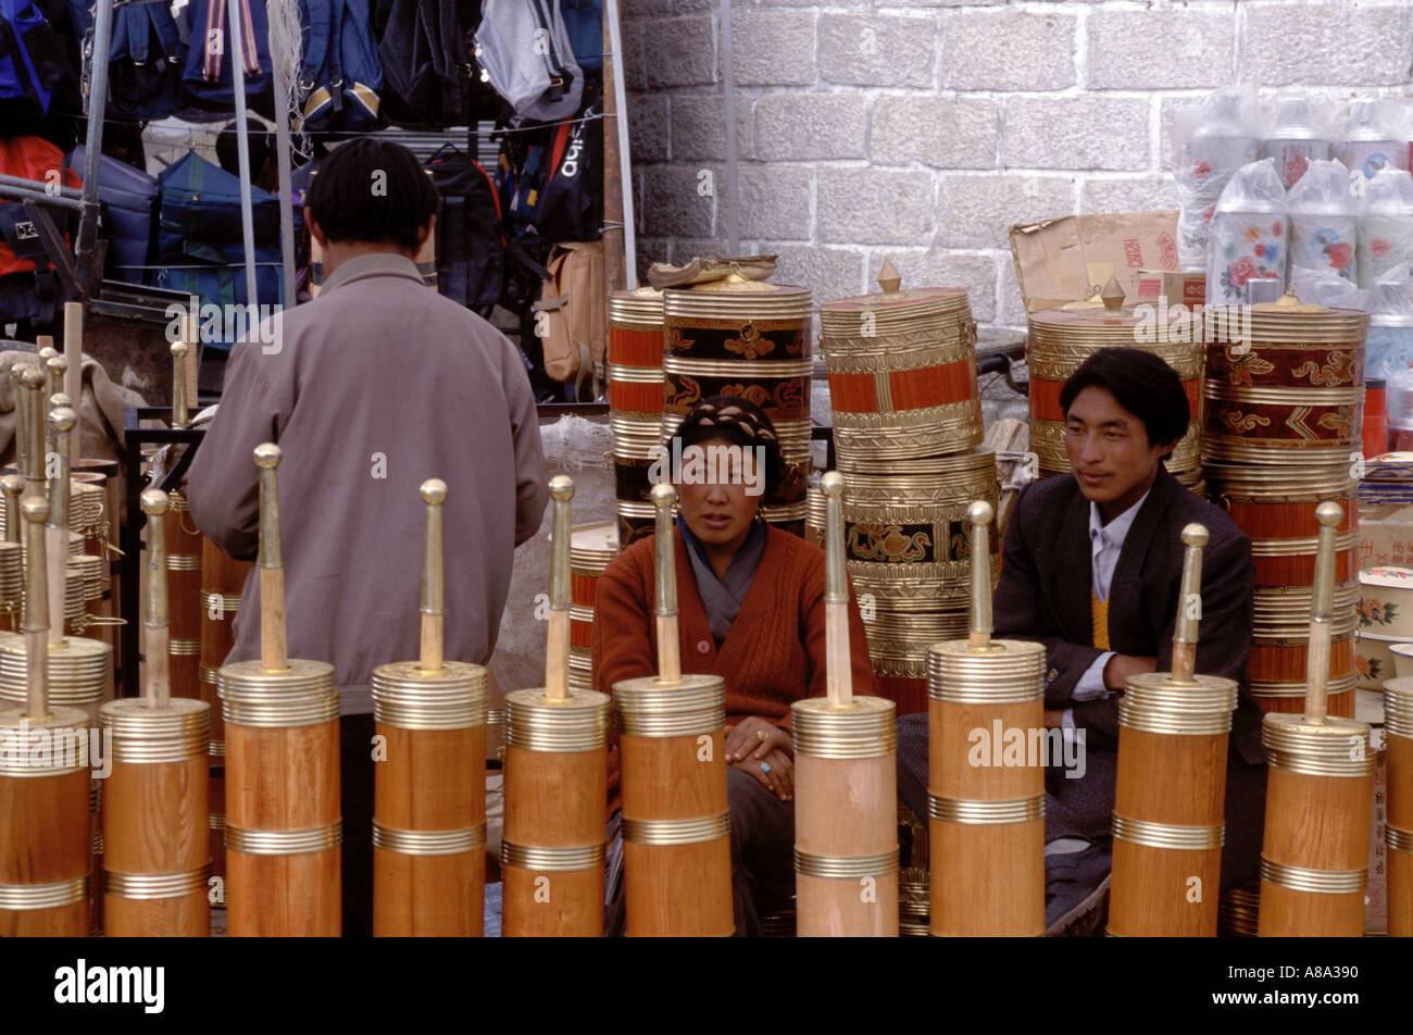
[[[804,534],[810,475],[812,305],[807,287],[750,280],[736,271],[663,291],[667,355],[661,440],[670,443],[682,417],[702,399],[739,396],[759,406],[776,427],[788,468],[777,496],[762,502],[762,515],[797,536]]]

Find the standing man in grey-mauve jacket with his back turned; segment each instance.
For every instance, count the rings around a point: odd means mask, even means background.
[[[237,342],[188,476],[196,526],[235,557],[259,533],[256,445],[274,441],[291,657],[333,665],[341,694],[343,933],[372,933],[372,670],[420,652],[425,508],[447,482],[445,656],[496,646],[514,547],[548,499],[519,351],[427,288],[414,256],[437,188],[407,148],[350,140],[325,160],[305,221],[324,249],[318,300]],[[260,656],[259,568],[229,662]]]

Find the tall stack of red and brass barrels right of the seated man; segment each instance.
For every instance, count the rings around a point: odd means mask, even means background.
[[[1331,715],[1351,717],[1359,598],[1354,461],[1369,317],[1286,296],[1249,307],[1249,318],[1242,335],[1249,341],[1207,346],[1202,467],[1212,499],[1252,540],[1252,696],[1266,711],[1303,707],[1316,508],[1334,501],[1344,519],[1335,536],[1328,697]]]

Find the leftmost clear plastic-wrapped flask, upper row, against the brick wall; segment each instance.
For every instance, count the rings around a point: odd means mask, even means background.
[[[1205,269],[1208,226],[1217,202],[1236,170],[1256,160],[1259,134],[1256,88],[1251,85],[1217,90],[1174,110],[1169,140],[1181,206],[1177,263],[1184,270]]]

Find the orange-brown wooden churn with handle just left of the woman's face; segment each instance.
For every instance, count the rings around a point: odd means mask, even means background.
[[[623,773],[627,933],[725,936],[735,929],[726,690],[721,676],[682,673],[675,502],[671,485],[653,486],[658,674],[613,684]]]

